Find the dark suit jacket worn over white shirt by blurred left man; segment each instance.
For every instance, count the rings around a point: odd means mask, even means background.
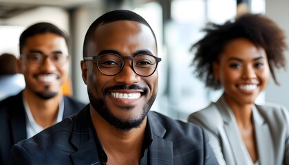
[[[85,106],[66,96],[63,99],[63,118],[77,113]],[[0,164],[8,164],[12,145],[27,138],[22,92],[0,102],[0,131]]]

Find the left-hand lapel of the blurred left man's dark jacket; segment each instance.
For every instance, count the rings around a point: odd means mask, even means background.
[[[10,111],[11,115],[11,131],[12,131],[12,142],[16,144],[21,140],[25,140],[27,138],[26,132],[26,122],[25,122],[25,109],[23,105],[22,92],[15,96],[15,100],[12,102],[14,106],[12,106]]]

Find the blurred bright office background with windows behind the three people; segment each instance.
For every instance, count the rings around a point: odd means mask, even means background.
[[[104,12],[133,10],[151,24],[162,58],[159,92],[152,109],[186,121],[190,113],[222,94],[209,91],[193,75],[189,49],[204,35],[200,30],[206,23],[224,23],[243,11],[261,13],[275,20],[289,37],[288,8],[288,0],[0,0],[0,54],[19,56],[19,35],[26,27],[40,21],[54,23],[70,35],[73,97],[88,102],[80,67],[85,32]],[[288,51],[286,56],[289,65]],[[289,109],[288,69],[278,72],[277,78],[281,86],[271,80],[257,101],[277,102]]]

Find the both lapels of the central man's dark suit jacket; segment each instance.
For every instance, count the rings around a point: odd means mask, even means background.
[[[94,136],[89,126],[91,121],[89,105],[87,105],[74,120],[71,142],[76,152],[71,155],[74,164],[101,164]],[[173,143],[164,140],[166,129],[159,122],[154,113],[148,114],[149,130],[151,132],[151,146],[149,147],[150,164],[173,164]]]

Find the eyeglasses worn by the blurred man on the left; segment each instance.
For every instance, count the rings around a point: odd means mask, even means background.
[[[21,54],[21,57],[25,57],[28,61],[28,65],[31,65],[33,67],[39,67],[40,65],[43,65],[43,61],[45,58],[50,58],[52,63],[56,67],[61,67],[69,58],[68,55],[62,54],[62,53],[53,53],[50,55],[45,55],[40,52],[30,52],[28,54]]]

